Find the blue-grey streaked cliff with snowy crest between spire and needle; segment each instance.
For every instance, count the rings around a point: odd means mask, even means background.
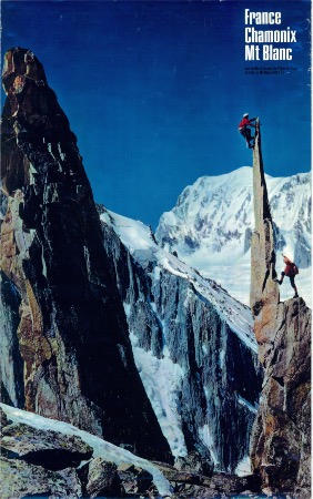
[[[105,208],[101,220],[135,365],[176,462],[198,455],[203,466],[249,472],[262,379],[250,309],[141,222]]]

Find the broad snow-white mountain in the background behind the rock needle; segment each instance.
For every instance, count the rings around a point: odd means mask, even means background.
[[[276,251],[296,262],[300,292],[311,302],[311,175],[265,177]],[[229,174],[200,177],[188,186],[173,210],[161,216],[155,237],[162,247],[248,304],[253,227],[252,169],[243,166]],[[281,291],[283,299],[291,294],[286,284]]]

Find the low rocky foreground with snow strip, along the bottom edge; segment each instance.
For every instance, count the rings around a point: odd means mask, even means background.
[[[209,478],[171,465],[151,464],[72,425],[4,405],[1,408],[3,498],[209,499],[260,491],[255,476],[214,473]]]

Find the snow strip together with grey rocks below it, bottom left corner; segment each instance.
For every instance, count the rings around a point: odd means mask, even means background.
[[[170,483],[153,465],[71,425],[4,405],[0,416],[3,498],[139,497],[149,489],[158,495],[145,464],[161,477],[161,492],[171,493]]]

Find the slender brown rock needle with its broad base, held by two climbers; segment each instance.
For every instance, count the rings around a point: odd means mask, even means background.
[[[309,498],[311,310],[302,298],[280,303],[259,129],[256,134],[251,308],[264,381],[252,431],[251,458],[267,492],[287,491]]]

